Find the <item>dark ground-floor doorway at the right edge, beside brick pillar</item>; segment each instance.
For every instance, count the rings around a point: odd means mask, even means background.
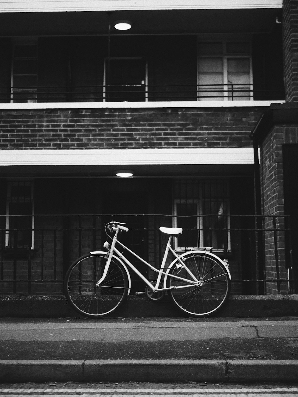
[[[291,293],[298,293],[298,145],[283,145],[286,262],[291,268]]]

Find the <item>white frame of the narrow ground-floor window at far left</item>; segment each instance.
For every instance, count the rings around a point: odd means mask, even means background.
[[[10,217],[12,214],[10,214],[10,204],[13,203],[12,200],[12,187],[14,183],[30,183],[31,187],[31,198],[30,198],[30,203],[31,203],[31,208],[32,208],[32,214],[28,214],[28,216],[31,217],[31,244],[29,241],[28,245],[28,250],[33,251],[34,249],[34,223],[35,223],[35,213],[34,213],[34,181],[33,180],[11,180],[8,181],[7,183],[7,195],[6,195],[6,216],[5,216],[5,247],[6,249],[17,249],[17,250],[24,250],[26,248],[24,247],[10,247],[10,241],[11,241],[11,229],[10,229]],[[25,198],[25,196],[18,196],[19,198]],[[25,202],[25,201],[23,201]]]

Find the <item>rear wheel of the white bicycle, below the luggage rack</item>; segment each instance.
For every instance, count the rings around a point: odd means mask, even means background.
[[[202,281],[202,285],[196,287],[170,276],[168,286],[173,287],[169,290],[171,300],[188,316],[207,317],[215,314],[223,307],[230,294],[231,280],[227,270],[216,257],[205,252],[190,253],[184,258],[183,263],[199,281]],[[172,274],[193,280],[185,268],[173,270]]]

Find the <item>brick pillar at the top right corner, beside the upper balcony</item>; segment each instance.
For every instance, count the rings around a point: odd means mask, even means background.
[[[298,102],[298,0],[283,0],[286,102]]]

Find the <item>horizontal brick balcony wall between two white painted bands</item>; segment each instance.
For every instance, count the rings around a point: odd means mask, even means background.
[[[262,108],[2,110],[0,149],[251,146]]]

